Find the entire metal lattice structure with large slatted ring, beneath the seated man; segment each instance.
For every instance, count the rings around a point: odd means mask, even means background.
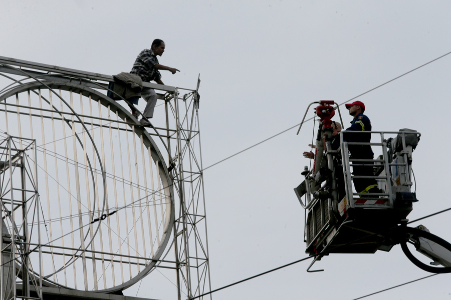
[[[15,250],[21,288],[3,284],[3,294],[102,298],[160,269],[173,297],[209,291],[197,90],[144,83],[165,118],[143,127],[106,95],[112,76],[2,56],[0,75],[0,182],[24,185],[7,170],[29,170],[36,202],[7,208],[20,200],[2,185],[3,242],[13,241],[2,257]]]

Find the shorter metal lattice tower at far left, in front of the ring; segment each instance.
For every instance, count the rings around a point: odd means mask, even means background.
[[[34,149],[32,158],[26,152],[30,149]],[[33,220],[28,219],[30,211],[36,215],[36,221],[40,221],[35,157],[35,140],[7,136],[0,141],[1,299],[42,299],[42,277],[31,275],[33,265],[28,259],[30,248],[35,247],[30,240],[35,228]],[[37,231],[38,244],[33,250],[41,253],[39,228]],[[33,297],[31,289],[35,292]]]

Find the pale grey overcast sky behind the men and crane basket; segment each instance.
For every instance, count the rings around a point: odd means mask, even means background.
[[[310,102],[343,103],[451,51],[449,1],[1,3],[0,56],[112,75],[129,71],[143,48],[163,39],[160,63],[181,70],[163,71],[165,84],[195,88],[200,73],[204,167],[300,123]],[[451,207],[450,80],[451,54],[358,98],[373,130],[408,127],[422,134],[413,153],[419,202],[410,219]],[[341,108],[346,127],[351,118]],[[213,289],[307,256],[304,210],[293,188],[309,163],[302,152],[313,122],[299,135],[296,130],[205,170]],[[421,223],[451,241],[450,213]],[[213,299],[347,300],[429,275],[399,246],[331,254],[314,265],[324,272],[307,273],[309,262],[215,292]],[[450,299],[449,279],[436,275],[367,299]],[[137,295],[152,297],[156,289],[142,285]]]

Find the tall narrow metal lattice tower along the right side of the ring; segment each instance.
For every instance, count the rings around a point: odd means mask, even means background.
[[[199,159],[199,83],[198,79],[196,90],[179,97],[182,102],[168,101],[179,94],[178,89],[166,99],[166,120],[171,116],[175,121],[174,136],[168,134],[168,145],[176,147],[175,156],[170,157],[169,161],[171,167],[174,167],[173,180],[178,182],[176,190],[180,198],[180,211],[174,222],[175,251],[179,265],[177,280],[178,285],[183,285],[189,292],[186,294],[188,298],[203,294],[205,288],[211,290],[202,161]],[[171,143],[171,139],[175,143]],[[182,293],[183,290],[179,290],[179,299],[182,298]]]

